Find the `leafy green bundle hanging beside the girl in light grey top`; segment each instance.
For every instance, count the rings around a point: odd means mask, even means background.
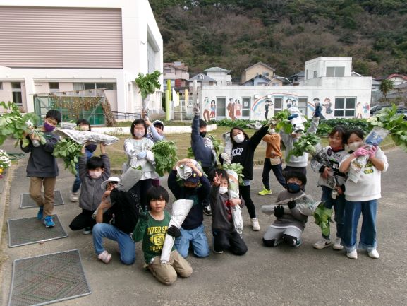
[[[157,141],[151,148],[154,153],[155,172],[162,177],[165,172],[171,172],[178,160],[174,141]]]

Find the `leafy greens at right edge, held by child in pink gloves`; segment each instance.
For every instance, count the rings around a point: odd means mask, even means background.
[[[372,127],[380,126],[390,132],[391,138],[397,146],[407,151],[407,121],[403,114],[397,114],[396,105],[384,107],[380,112],[367,119]]]

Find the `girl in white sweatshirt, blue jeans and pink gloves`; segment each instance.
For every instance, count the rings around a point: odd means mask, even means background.
[[[353,129],[348,132],[346,143],[351,153],[346,155],[339,165],[339,171],[348,172],[353,160],[359,156],[368,158],[367,164],[360,170],[358,182],[347,180],[345,183],[345,218],[342,245],[346,249],[346,256],[358,258],[356,233],[360,214],[362,214],[362,228],[360,230],[360,249],[366,249],[369,257],[379,258],[376,249],[376,215],[377,199],[381,194],[381,175],[389,167],[387,157],[378,146],[363,146],[363,131]]]

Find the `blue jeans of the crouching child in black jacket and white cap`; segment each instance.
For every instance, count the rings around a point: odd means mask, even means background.
[[[120,260],[123,264],[133,264],[135,261],[135,242],[130,234],[126,234],[113,225],[107,223],[97,223],[92,229],[93,245],[97,255],[104,251],[104,237],[117,241],[119,244]]]

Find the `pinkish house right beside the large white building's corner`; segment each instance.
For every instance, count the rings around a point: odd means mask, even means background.
[[[171,88],[174,88],[177,93],[183,95],[188,88],[188,66],[181,61],[173,63],[164,63],[164,91],[166,90],[167,80],[171,81]]]

